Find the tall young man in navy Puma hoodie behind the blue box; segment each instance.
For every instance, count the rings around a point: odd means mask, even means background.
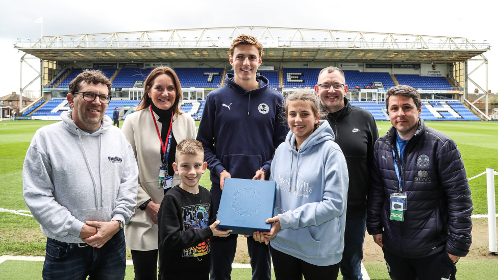
[[[211,176],[213,208],[217,213],[226,178],[268,179],[275,149],[288,131],[280,114],[283,96],[257,76],[263,46],[253,36],[239,35],[230,46],[230,64],[225,86],[206,98],[197,140]],[[270,279],[268,245],[247,238],[253,279]],[[211,240],[211,279],[230,279],[237,248],[237,235]]]

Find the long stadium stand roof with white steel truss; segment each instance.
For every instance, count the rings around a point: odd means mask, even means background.
[[[256,36],[271,61],[459,62],[490,49],[463,37],[326,29],[222,27],[44,36],[14,47],[50,61],[225,60],[232,38]]]

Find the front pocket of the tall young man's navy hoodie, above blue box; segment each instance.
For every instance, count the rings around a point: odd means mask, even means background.
[[[253,179],[256,171],[263,165],[261,156],[225,155],[223,167],[227,168],[232,178]]]

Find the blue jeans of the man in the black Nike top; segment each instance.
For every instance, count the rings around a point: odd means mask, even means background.
[[[361,218],[346,219],[344,230],[344,252],[341,260],[343,280],[360,280],[363,241],[365,240],[366,215]]]

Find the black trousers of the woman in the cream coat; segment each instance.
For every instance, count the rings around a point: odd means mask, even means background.
[[[158,250],[131,250],[135,280],[157,280],[157,252]]]

